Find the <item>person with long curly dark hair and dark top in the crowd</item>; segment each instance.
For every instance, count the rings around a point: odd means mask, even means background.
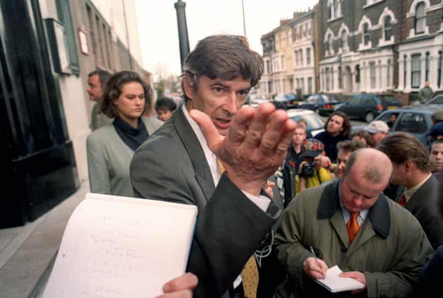
[[[317,134],[314,138],[325,145],[326,156],[334,162],[337,159],[337,143],[349,140],[350,132],[349,117],[343,112],[337,111],[329,116],[325,124],[325,131]]]

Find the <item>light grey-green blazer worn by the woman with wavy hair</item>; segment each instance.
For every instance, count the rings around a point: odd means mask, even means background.
[[[154,118],[142,119],[149,135],[163,124]],[[91,192],[134,196],[129,180],[129,163],[134,151],[121,140],[112,124],[88,136],[86,152]]]

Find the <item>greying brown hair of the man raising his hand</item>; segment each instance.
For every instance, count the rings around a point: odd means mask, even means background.
[[[241,77],[250,80],[251,87],[257,85],[263,74],[263,59],[249,48],[249,43],[240,35],[211,35],[197,43],[188,54],[183,65],[182,90],[184,101],[188,101],[184,80],[189,80],[194,92],[198,91],[199,78],[208,76],[214,80],[232,80]]]

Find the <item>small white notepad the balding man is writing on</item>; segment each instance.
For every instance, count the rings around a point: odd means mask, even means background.
[[[339,277],[340,273],[342,273],[342,271],[335,265],[326,271],[324,280],[314,279],[314,281],[328,289],[331,293],[353,291],[364,287],[362,283],[354,279]]]

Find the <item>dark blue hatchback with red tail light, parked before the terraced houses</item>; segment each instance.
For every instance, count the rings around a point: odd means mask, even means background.
[[[359,94],[348,99],[337,108],[349,116],[367,123],[374,120],[383,111],[402,107],[402,103],[391,94]]]

